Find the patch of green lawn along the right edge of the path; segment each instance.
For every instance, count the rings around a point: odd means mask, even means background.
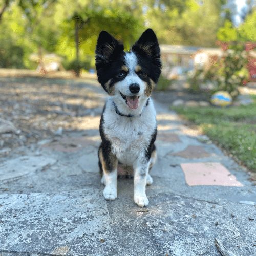
[[[172,107],[199,125],[208,137],[256,172],[256,95],[254,104],[229,108]]]

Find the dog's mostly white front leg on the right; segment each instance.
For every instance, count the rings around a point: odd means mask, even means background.
[[[142,158],[134,164],[134,202],[140,207],[148,205],[148,199],[146,197],[146,177],[149,164],[146,158]]]

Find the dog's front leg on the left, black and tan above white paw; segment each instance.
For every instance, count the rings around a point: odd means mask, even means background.
[[[99,167],[103,174],[101,183],[105,185],[103,196],[106,200],[115,200],[117,197],[117,158],[111,152],[109,143],[102,142],[99,151]]]

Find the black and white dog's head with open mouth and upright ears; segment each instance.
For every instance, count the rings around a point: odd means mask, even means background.
[[[129,52],[106,31],[96,47],[98,81],[119,110],[140,112],[161,73],[160,48],[152,29],[147,29]]]

